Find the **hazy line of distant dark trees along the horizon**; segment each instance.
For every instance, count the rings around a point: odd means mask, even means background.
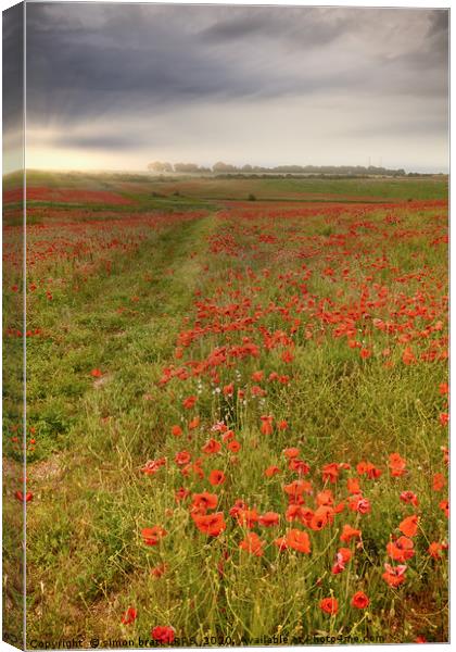
[[[261,165],[231,165],[217,161],[212,167],[203,167],[197,163],[167,163],[154,161],[148,165],[148,170],[160,174],[166,173],[215,173],[215,174],[319,174],[319,175],[382,175],[405,176],[405,170],[388,170],[375,165],[276,165],[275,167],[263,167]]]

